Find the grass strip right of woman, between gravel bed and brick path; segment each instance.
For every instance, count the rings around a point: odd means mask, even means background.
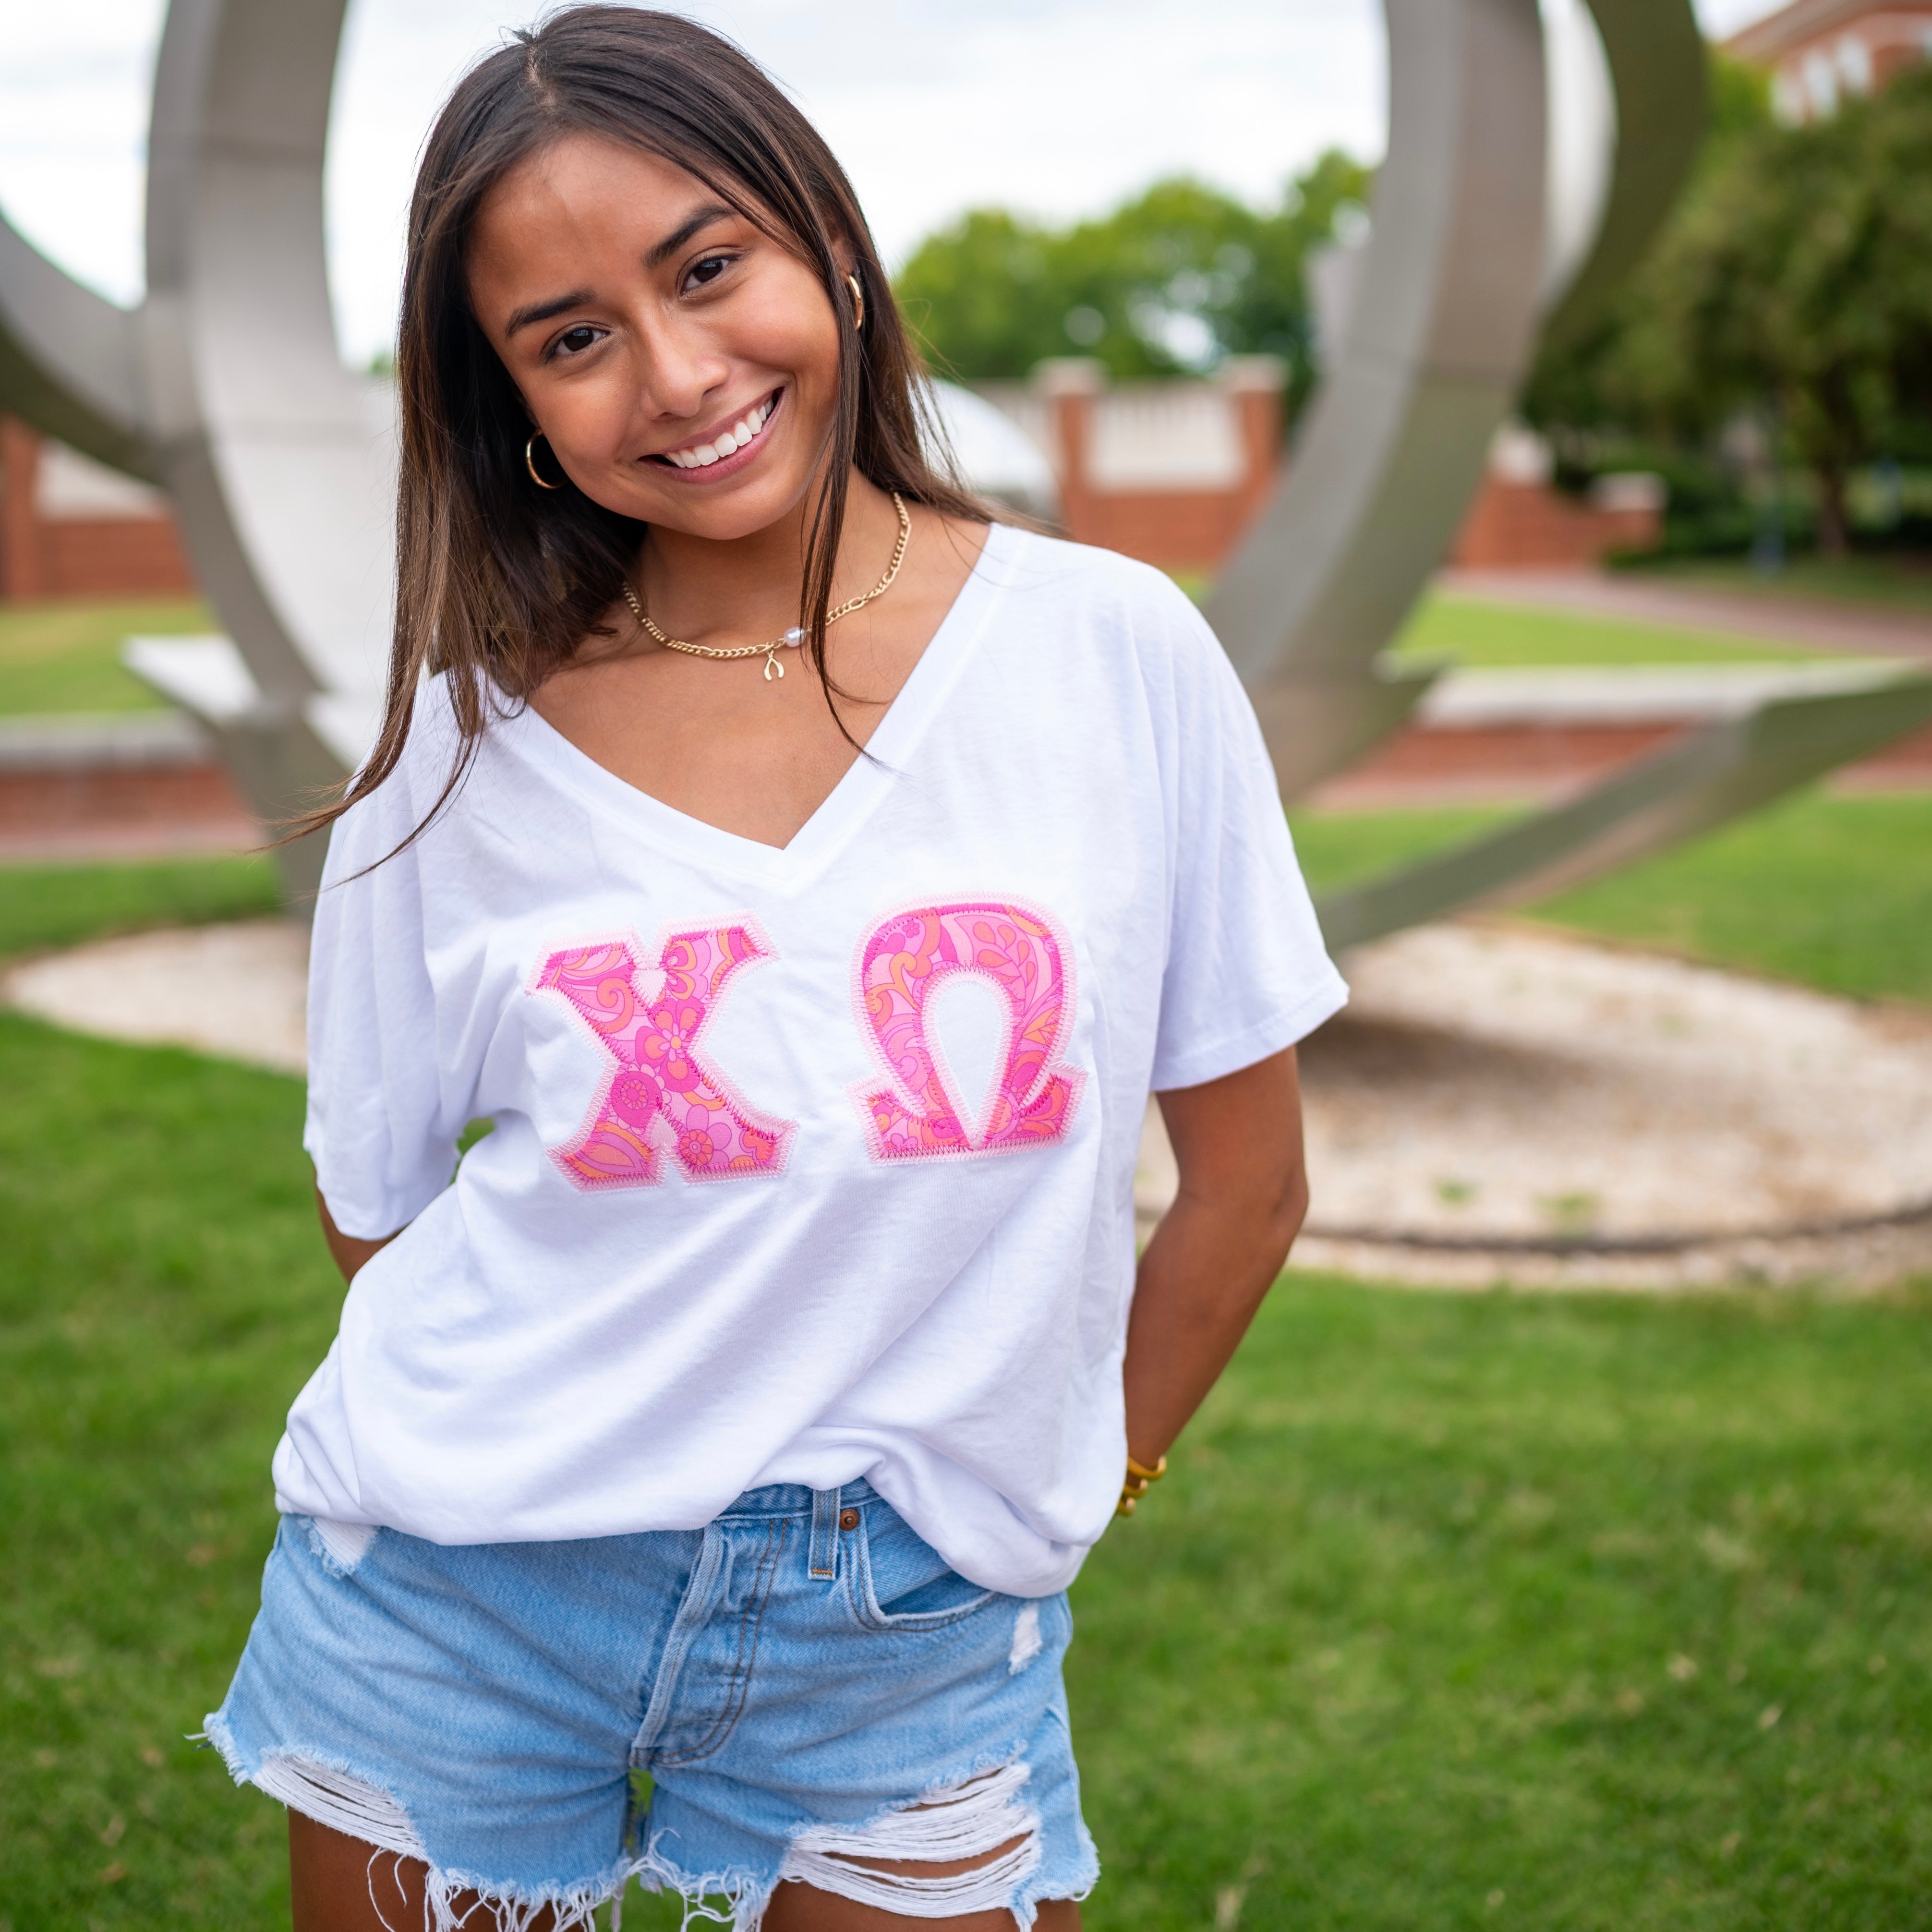
[[[1296,813],[1314,885],[1345,885],[1507,810]],[[1528,918],[1847,993],[1932,1003],[1932,794],[1810,790]]]

